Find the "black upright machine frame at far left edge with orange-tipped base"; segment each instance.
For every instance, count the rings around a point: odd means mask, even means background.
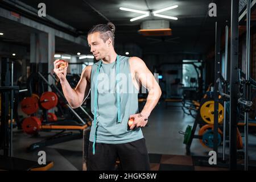
[[[11,64],[11,71],[10,71]],[[19,86],[13,86],[13,62],[2,57],[1,68],[1,125],[0,125],[0,170],[45,171],[53,167],[53,162],[39,165],[38,162],[13,157],[13,100]],[[11,85],[11,86],[10,86]],[[9,94],[10,93],[10,94]],[[9,109],[10,108],[10,109]]]

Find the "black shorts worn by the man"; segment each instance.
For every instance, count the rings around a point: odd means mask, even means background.
[[[125,171],[149,171],[145,139],[122,144],[96,143],[95,154],[92,154],[93,142],[89,143],[89,171],[112,171],[115,169],[117,158],[122,170]]]

